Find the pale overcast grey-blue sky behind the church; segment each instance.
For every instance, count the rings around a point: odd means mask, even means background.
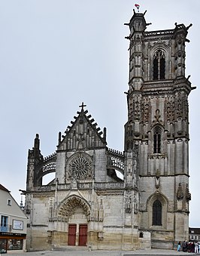
[[[193,24],[186,44],[186,76],[197,86],[189,95],[189,226],[200,227],[199,0],[1,0],[0,183],[20,202],[35,134],[41,153],[54,153],[59,131],[82,101],[108,129],[108,147],[123,151],[129,73],[129,27],[123,24],[135,3],[147,10],[147,30]]]

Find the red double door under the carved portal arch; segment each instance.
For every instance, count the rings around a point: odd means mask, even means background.
[[[68,225],[68,245],[86,246],[87,225],[69,224]]]

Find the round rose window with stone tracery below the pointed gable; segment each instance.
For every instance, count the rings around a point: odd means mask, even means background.
[[[88,156],[80,154],[68,163],[69,178],[85,179],[92,177],[92,162]]]

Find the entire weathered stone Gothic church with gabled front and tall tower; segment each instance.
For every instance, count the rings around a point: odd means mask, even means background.
[[[126,24],[124,151],[108,148],[106,128],[97,127],[83,103],[59,133],[56,153],[44,157],[36,134],[24,192],[28,250],[174,248],[188,239],[188,95],[193,87],[185,77],[185,44],[191,25],[147,32],[144,15],[134,11]],[[42,178],[51,172],[55,179],[43,186]]]

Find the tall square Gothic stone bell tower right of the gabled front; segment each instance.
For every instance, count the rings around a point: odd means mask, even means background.
[[[145,13],[144,13],[145,14]],[[140,230],[152,247],[172,248],[188,239],[189,119],[185,77],[189,26],[146,32],[144,14],[128,24],[129,91],[125,153],[137,153]],[[127,176],[127,175],[126,175]]]

